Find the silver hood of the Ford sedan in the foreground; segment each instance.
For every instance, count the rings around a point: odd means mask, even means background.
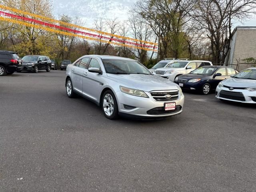
[[[179,86],[170,80],[156,75],[144,74],[107,74],[108,78],[118,82],[120,86],[134,88],[146,92],[153,90],[180,90]]]

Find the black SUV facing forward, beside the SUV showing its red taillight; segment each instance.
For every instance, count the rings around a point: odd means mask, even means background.
[[[25,71],[34,71],[38,73],[38,70],[51,71],[52,62],[47,56],[42,55],[26,55],[22,58],[22,66]]]

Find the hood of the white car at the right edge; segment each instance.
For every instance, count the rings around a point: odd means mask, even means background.
[[[253,87],[256,86],[256,80],[252,79],[238,79],[238,78],[228,78],[222,81],[222,84],[229,87]]]

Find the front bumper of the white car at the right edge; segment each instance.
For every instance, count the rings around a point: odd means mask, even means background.
[[[256,104],[256,91],[246,89],[229,90],[226,87],[217,86],[215,97],[228,101]]]

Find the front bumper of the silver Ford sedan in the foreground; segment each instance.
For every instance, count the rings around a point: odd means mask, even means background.
[[[118,108],[120,114],[126,116],[138,116],[142,118],[168,117],[180,114],[183,110],[184,95],[179,91],[178,100],[157,102],[149,92],[145,92],[149,98],[132,96],[121,91],[116,92],[118,98]],[[176,103],[175,110],[164,111],[164,103]],[[135,108],[127,109],[125,106]]]

